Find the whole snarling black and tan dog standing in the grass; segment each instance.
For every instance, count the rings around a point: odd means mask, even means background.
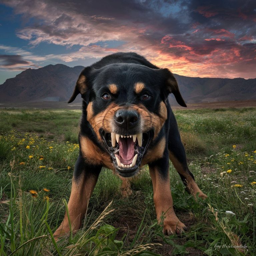
[[[191,194],[207,196],[189,171],[174,114],[168,102],[173,93],[186,107],[178,84],[168,69],[161,69],[136,53],[108,55],[80,74],[69,103],[83,98],[79,156],[73,173],[68,211],[72,231],[85,215],[102,167],[123,180],[148,164],[157,219],[164,215],[165,234],[180,234],[186,226],[173,210],[169,159]],[[70,231],[67,213],[55,237]]]

